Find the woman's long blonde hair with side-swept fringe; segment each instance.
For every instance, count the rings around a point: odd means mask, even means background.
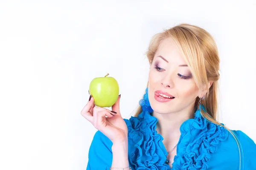
[[[201,115],[216,125],[223,126],[236,139],[239,148],[239,161],[241,169],[241,151],[239,141],[235,134],[226,126],[221,125],[217,119],[218,103],[218,79],[219,75],[219,57],[218,48],[213,37],[203,28],[190,24],[179,24],[169,29],[164,29],[163,32],[155,34],[150,41],[146,56],[150,65],[154,59],[154,55],[160,43],[172,37],[175,44],[179,48],[183,58],[185,59],[192,76],[199,90],[207,88],[207,94],[201,104],[204,105],[206,112],[201,109]],[[208,87],[208,82],[212,82],[211,87]],[[148,87],[148,84],[147,84]],[[198,108],[199,97],[195,101],[195,107]],[[134,116],[138,116],[142,112],[141,106],[137,108]]]

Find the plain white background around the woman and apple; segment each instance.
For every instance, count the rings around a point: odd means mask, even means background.
[[[0,0],[0,169],[85,170],[96,129],[80,111],[90,81],[119,82],[129,118],[149,40],[179,23],[215,38],[221,119],[256,141],[256,1]]]

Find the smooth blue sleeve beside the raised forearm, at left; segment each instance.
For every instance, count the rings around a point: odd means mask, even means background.
[[[90,145],[86,170],[109,170],[112,164],[112,142],[99,130]]]

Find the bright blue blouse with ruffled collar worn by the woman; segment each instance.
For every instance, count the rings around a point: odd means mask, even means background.
[[[172,169],[165,163],[167,151],[157,133],[157,119],[148,111],[124,119],[128,127],[128,161],[132,170],[239,170],[239,149],[224,127],[204,119],[200,112],[180,126],[180,139]],[[256,170],[256,144],[240,130],[241,170]],[[87,170],[109,170],[112,142],[97,131],[90,145]]]

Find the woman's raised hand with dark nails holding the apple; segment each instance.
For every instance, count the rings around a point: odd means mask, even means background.
[[[94,99],[90,96],[89,101],[81,111],[93,126],[101,131],[111,142],[125,142],[127,140],[127,125],[123,120],[119,109],[120,95],[116,103],[112,106],[112,111],[94,105]],[[108,117],[105,117],[108,116]]]

